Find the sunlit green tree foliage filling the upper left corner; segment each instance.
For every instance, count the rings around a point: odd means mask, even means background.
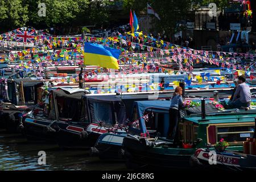
[[[38,4],[46,4],[46,16]],[[0,0],[0,24],[5,31],[22,26],[73,27],[108,23],[112,1],[92,0]]]

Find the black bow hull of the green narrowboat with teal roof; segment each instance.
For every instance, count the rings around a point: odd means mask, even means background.
[[[131,137],[123,139],[127,167],[133,169],[188,169],[194,149],[147,147]]]

